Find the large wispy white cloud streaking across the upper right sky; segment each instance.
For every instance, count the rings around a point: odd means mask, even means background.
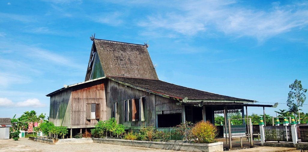
[[[138,25],[150,31],[168,29],[184,35],[218,30],[237,37],[256,37],[260,41],[308,25],[307,5],[271,5],[270,9],[260,10],[225,0],[172,3],[167,13],[149,15]]]

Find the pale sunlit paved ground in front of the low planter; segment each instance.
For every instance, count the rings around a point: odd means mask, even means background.
[[[294,148],[286,147],[256,147],[243,150],[232,150],[232,152],[271,152],[289,151]],[[184,152],[180,150],[161,150],[153,148],[121,146],[103,143],[70,143],[61,145],[50,145],[43,142],[34,142],[28,138],[0,139],[0,152]],[[295,150],[294,150],[295,151]],[[299,150],[296,150],[299,151]]]

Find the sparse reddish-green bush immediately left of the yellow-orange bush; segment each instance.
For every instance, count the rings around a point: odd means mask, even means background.
[[[185,123],[181,123],[176,125],[176,127],[173,127],[173,130],[175,131],[175,134],[180,134],[183,136],[182,140],[192,141],[194,139],[191,131],[192,127],[193,123],[185,121]]]

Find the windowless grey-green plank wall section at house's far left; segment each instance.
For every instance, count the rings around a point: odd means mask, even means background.
[[[49,121],[55,126],[71,127],[71,88],[50,97]]]

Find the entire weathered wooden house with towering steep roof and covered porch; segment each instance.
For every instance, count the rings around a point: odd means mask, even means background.
[[[215,113],[244,115],[244,106],[260,106],[161,81],[146,45],[100,39],[93,39],[85,81],[47,96],[49,120],[70,128],[71,136],[112,117],[127,130],[149,125],[160,129],[184,121],[214,122]]]

